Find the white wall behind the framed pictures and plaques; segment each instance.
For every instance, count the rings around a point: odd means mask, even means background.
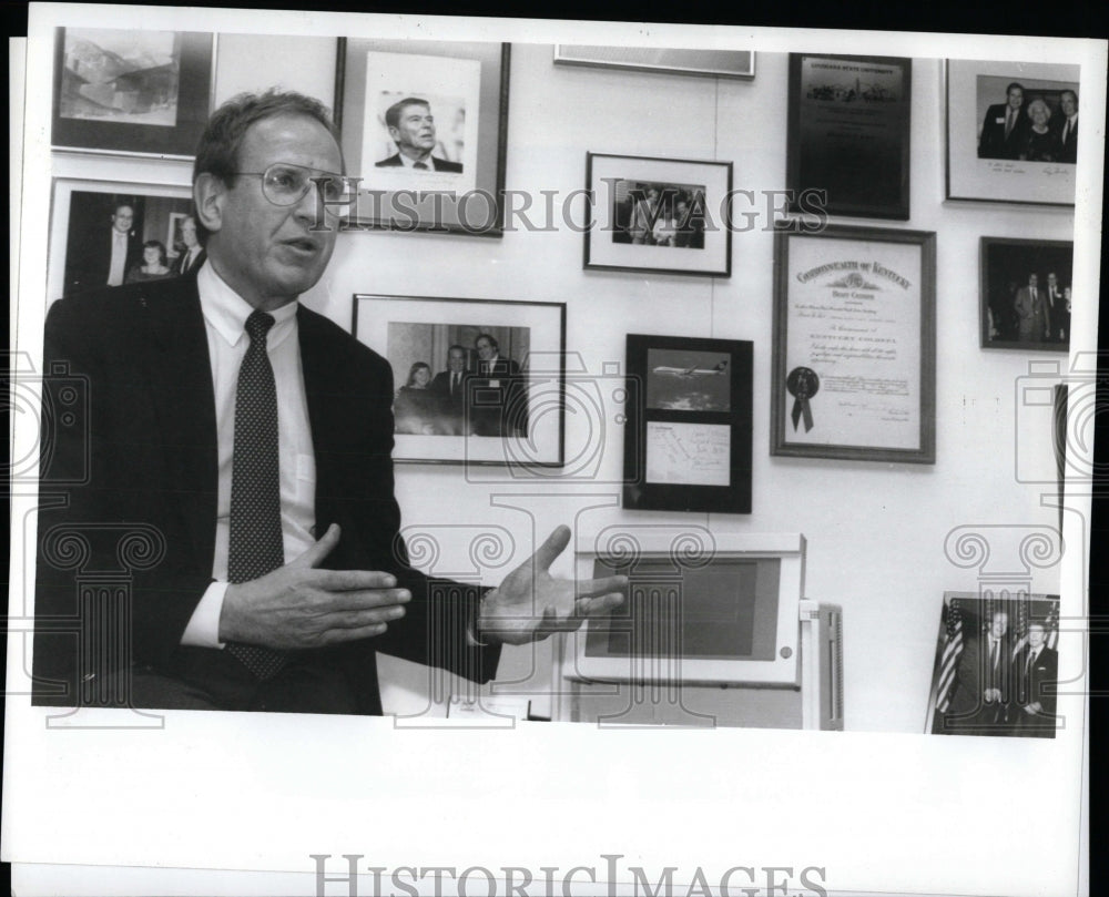
[[[295,67],[289,64],[294,58]],[[785,187],[784,54],[760,53],[751,82],[561,68],[551,60],[550,45],[512,47],[509,188],[536,195],[581,188],[587,151],[732,161],[736,187]],[[283,84],[330,103],[334,68],[332,40],[223,35],[216,96]],[[1055,509],[1040,507],[1039,487],[1015,480],[1018,441],[1022,465],[1042,480],[1054,476],[1047,418],[1028,424],[1024,410],[1018,418],[1016,390],[1029,360],[1065,361],[1050,354],[978,347],[978,238],[1072,238],[1068,210],[943,201],[942,69],[936,59],[914,62],[913,217],[888,225],[937,233],[935,466],[770,456],[773,237],[761,230],[735,234],[730,279],[586,272],[582,236],[569,228],[520,230],[501,239],[348,234],[339,237],[330,268],[305,302],[345,327],[356,292],[562,302],[567,346],[581,354],[591,373],[600,373],[607,361],[622,363],[628,332],[753,340],[752,513],[683,519],[718,531],[805,533],[808,597],[844,608],[847,727],[923,731],[942,595],[978,589],[977,568],[958,568],[945,554],[948,533],[964,526],[997,528],[984,530],[995,542],[990,562],[1011,572],[1024,569],[1015,548],[1019,538],[1014,541],[1011,534],[1057,521]],[[131,180],[133,167],[126,169],[133,165],[96,160],[91,169],[82,163],[81,171],[82,176]],[[184,166],[181,173],[187,182]],[[864,220],[836,223],[886,226]],[[582,436],[577,426],[570,421],[571,444]],[[621,436],[610,428],[602,478],[619,477],[621,452]],[[542,538],[554,524],[573,522],[580,511],[619,490],[572,481],[489,486],[468,482],[460,467],[401,465],[397,492],[407,524],[421,530],[500,524],[513,534],[519,561],[530,553],[537,533]],[[515,496],[498,500],[528,510],[494,508],[491,493]],[[582,518],[590,526],[672,519],[619,508]],[[465,572],[458,564],[454,572]],[[554,572],[571,575],[569,558],[560,559]],[[495,583],[501,573],[488,571],[487,581]],[[1034,591],[1058,591],[1057,568],[1029,568],[1028,575]],[[501,676],[530,674],[529,687],[545,687],[549,649],[536,650],[535,665],[530,658],[530,649],[506,651]],[[416,696],[421,672],[385,661],[383,673],[394,682],[387,702],[421,706]]]

